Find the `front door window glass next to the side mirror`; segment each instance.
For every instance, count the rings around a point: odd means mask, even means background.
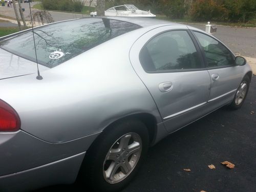
[[[234,64],[231,52],[214,38],[199,32],[194,32],[203,47],[208,67],[222,67]]]

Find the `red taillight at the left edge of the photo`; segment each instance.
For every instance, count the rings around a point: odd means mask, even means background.
[[[0,132],[14,132],[20,129],[20,120],[16,111],[0,99]]]

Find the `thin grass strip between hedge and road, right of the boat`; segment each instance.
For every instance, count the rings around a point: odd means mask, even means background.
[[[169,20],[170,22],[177,22],[177,23],[198,23],[198,24],[205,24],[208,22],[195,22],[190,18],[183,18],[183,19],[170,19],[164,15],[157,15],[157,19],[162,20]],[[211,22],[211,21],[210,21]],[[256,18],[249,20],[247,23],[231,23],[231,22],[211,22],[212,24],[216,25],[224,25],[224,26],[233,26],[233,27],[256,27]]]

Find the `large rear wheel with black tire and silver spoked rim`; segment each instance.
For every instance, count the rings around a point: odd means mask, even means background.
[[[114,123],[87,151],[80,169],[80,184],[93,191],[121,190],[136,175],[148,144],[148,131],[140,120]]]

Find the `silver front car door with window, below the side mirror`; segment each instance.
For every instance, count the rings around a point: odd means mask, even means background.
[[[230,102],[243,77],[242,66],[234,65],[235,56],[219,40],[199,31],[193,31],[204,55],[206,68],[211,77],[208,102],[216,107]]]

